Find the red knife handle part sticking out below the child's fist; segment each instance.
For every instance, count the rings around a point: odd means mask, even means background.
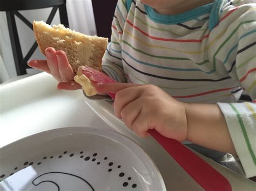
[[[231,191],[230,182],[177,140],[166,138],[156,130],[149,130],[150,135],[165,148],[178,164],[205,190]]]

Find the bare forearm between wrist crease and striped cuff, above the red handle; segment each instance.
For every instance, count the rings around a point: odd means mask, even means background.
[[[187,140],[224,153],[237,155],[225,117],[216,104],[185,104]]]

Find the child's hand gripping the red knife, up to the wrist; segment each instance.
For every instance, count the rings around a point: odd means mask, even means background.
[[[116,117],[139,137],[149,136],[149,129],[179,141],[187,139],[184,103],[153,85],[106,83],[96,86],[99,93],[116,94],[113,103]]]

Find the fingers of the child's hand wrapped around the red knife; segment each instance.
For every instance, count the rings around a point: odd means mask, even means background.
[[[116,98],[113,103],[116,117],[122,118],[125,125],[133,130],[139,137],[147,137],[150,134],[149,121],[146,111],[143,109],[141,98],[144,88],[139,84],[132,83],[106,83],[96,85],[99,93],[113,93]]]

